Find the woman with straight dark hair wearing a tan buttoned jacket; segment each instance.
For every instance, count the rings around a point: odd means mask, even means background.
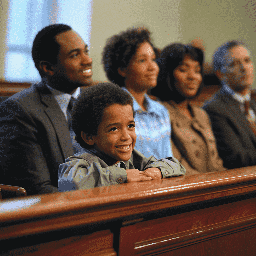
[[[186,175],[225,170],[208,115],[189,104],[201,92],[203,52],[174,43],[156,61],[160,72],[151,94],[169,110],[173,156],[186,168]]]

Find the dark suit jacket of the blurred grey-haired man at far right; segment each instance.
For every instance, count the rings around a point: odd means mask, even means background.
[[[226,168],[256,165],[256,136],[251,130],[239,103],[221,88],[205,102],[210,116],[219,156]],[[256,101],[251,99],[256,113]]]

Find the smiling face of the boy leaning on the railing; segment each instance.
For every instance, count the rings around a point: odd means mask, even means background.
[[[136,142],[131,105],[115,103],[106,107],[102,114],[97,135],[91,136],[94,147],[117,161],[128,161]]]

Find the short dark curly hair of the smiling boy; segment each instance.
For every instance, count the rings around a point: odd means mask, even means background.
[[[72,129],[76,141],[83,148],[93,146],[84,142],[81,131],[89,135],[97,135],[98,127],[102,119],[103,110],[113,104],[122,106],[130,105],[133,109],[132,96],[114,83],[99,83],[86,88],[77,98],[72,108]]]

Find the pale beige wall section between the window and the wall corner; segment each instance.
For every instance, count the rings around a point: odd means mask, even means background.
[[[93,79],[107,79],[101,64],[106,39],[127,28],[148,27],[159,48],[179,41],[181,5],[179,0],[94,0],[90,49]]]

